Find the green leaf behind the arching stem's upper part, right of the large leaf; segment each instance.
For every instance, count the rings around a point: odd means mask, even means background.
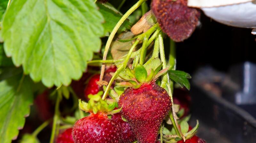
[[[105,22],[103,23],[104,33],[105,36],[108,36],[123,15],[109,4],[98,3],[97,5],[100,8],[100,13],[103,15],[105,19]],[[118,32],[130,29],[131,25],[132,24],[129,22],[129,20],[125,20],[121,27],[118,29]]]

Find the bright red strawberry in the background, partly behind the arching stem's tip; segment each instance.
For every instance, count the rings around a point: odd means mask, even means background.
[[[97,84],[97,82],[100,80],[100,75],[96,74],[93,75],[91,77],[91,79],[89,80],[86,88],[84,89],[84,97],[86,98],[87,101],[89,101],[88,95],[89,94],[97,94],[100,90],[99,85]]]

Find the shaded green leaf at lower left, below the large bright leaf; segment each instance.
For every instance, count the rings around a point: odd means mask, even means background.
[[[33,104],[30,79],[22,74],[0,82],[0,142],[11,143],[25,124]]]

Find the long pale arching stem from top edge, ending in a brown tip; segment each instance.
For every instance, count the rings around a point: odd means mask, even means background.
[[[108,54],[108,49],[110,47],[110,44],[117,32],[117,30],[119,29],[119,27],[124,23],[125,19],[128,18],[129,15],[132,14],[133,11],[135,11],[142,3],[144,3],[146,0],[139,0],[136,4],[134,4],[124,15],[123,17],[118,21],[118,23],[116,24],[116,26],[114,27],[113,31],[110,33],[109,37],[108,37],[108,41],[106,43],[105,46],[105,51],[103,54],[103,61],[106,60],[107,58],[107,54]],[[104,75],[104,71],[105,71],[105,64],[101,65],[101,72],[100,72],[100,82],[102,82],[103,79],[103,75]]]

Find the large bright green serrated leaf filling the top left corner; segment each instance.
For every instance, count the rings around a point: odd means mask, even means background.
[[[93,1],[12,1],[2,21],[6,55],[47,87],[79,79],[104,34],[103,17]]]

